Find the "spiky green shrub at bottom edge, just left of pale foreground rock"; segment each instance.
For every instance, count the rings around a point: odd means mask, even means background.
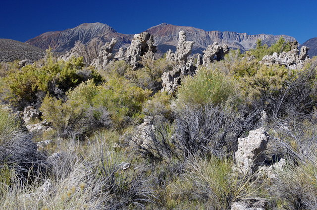
[[[263,200],[257,181],[240,177],[232,168],[233,161],[226,158],[193,157],[188,160],[185,173],[167,185],[168,209],[186,209],[189,205],[225,210],[230,209],[233,202]]]

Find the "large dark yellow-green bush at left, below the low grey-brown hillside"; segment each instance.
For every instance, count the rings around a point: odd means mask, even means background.
[[[42,67],[35,63],[21,69],[10,70],[7,77],[4,78],[6,99],[13,105],[23,108],[41,100],[39,93],[42,95],[47,92],[53,95],[62,94],[86,79],[82,75],[82,71],[85,71],[83,67],[82,57],[72,58],[69,61],[56,61],[51,52],[48,52]],[[96,82],[101,79],[94,70],[86,71],[90,77],[95,78]]]

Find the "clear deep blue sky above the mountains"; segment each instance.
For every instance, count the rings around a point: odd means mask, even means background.
[[[81,23],[140,33],[166,22],[206,31],[317,37],[316,0],[1,0],[0,38],[21,42]]]

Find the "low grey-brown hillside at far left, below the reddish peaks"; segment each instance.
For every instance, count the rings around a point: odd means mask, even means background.
[[[11,39],[0,39],[0,61],[29,59],[31,61],[44,58],[46,52],[41,48]]]

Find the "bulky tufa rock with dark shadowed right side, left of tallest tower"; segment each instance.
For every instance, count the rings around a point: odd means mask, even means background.
[[[155,52],[156,46],[154,46],[153,36],[149,32],[143,32],[134,35],[131,45],[125,52],[125,60],[132,66],[133,70],[136,70],[142,67],[139,62],[141,56],[152,59]]]

